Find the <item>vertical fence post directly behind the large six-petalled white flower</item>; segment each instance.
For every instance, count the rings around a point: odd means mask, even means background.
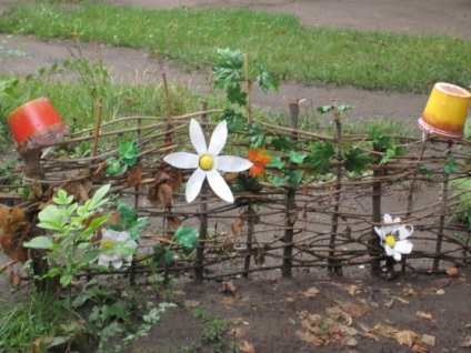
[[[201,115],[200,115],[200,121],[201,124],[204,125],[206,128],[206,123],[207,123],[207,114],[206,114],[206,110],[208,108],[207,102],[201,101],[200,102],[200,110],[202,111]],[[203,281],[203,275],[204,275],[204,241],[207,239],[207,234],[208,234],[208,182],[204,180],[202,186],[201,186],[201,193],[200,193],[200,199],[201,199],[201,206],[200,206],[200,233],[198,235],[199,238],[199,242],[198,242],[198,248],[197,248],[197,259],[196,259],[196,269],[194,269],[194,275],[196,275],[196,280],[198,282],[202,282]]]

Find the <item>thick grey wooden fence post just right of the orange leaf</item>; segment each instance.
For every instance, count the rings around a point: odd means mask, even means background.
[[[298,118],[299,118],[299,101],[290,103],[290,128],[293,130],[292,139],[295,142],[298,130]],[[293,254],[293,234],[294,234],[294,222],[297,220],[295,213],[298,212],[295,206],[295,190],[289,189],[287,192],[287,205],[284,212],[284,249],[283,249],[283,264],[281,266],[281,275],[283,278],[291,276],[292,269],[292,254]]]

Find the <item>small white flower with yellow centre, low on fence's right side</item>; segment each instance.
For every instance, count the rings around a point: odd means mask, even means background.
[[[410,254],[413,244],[407,240],[413,233],[413,225],[400,224],[401,219],[394,220],[384,213],[384,226],[374,226],[377,234],[381,238],[381,245],[388,256],[393,256],[395,261],[401,261],[402,254]]]

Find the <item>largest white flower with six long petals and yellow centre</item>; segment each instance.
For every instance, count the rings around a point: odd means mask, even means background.
[[[222,172],[241,172],[253,164],[241,157],[219,155],[228,139],[227,122],[221,121],[211,135],[209,148],[207,148],[203,130],[197,120],[191,119],[190,139],[197,153],[176,152],[166,155],[163,160],[180,169],[196,169],[187,182],[187,202],[192,202],[201,191],[201,185],[208,178],[209,185],[218,196],[227,202],[233,202],[234,198],[229,185],[221,176]]]

